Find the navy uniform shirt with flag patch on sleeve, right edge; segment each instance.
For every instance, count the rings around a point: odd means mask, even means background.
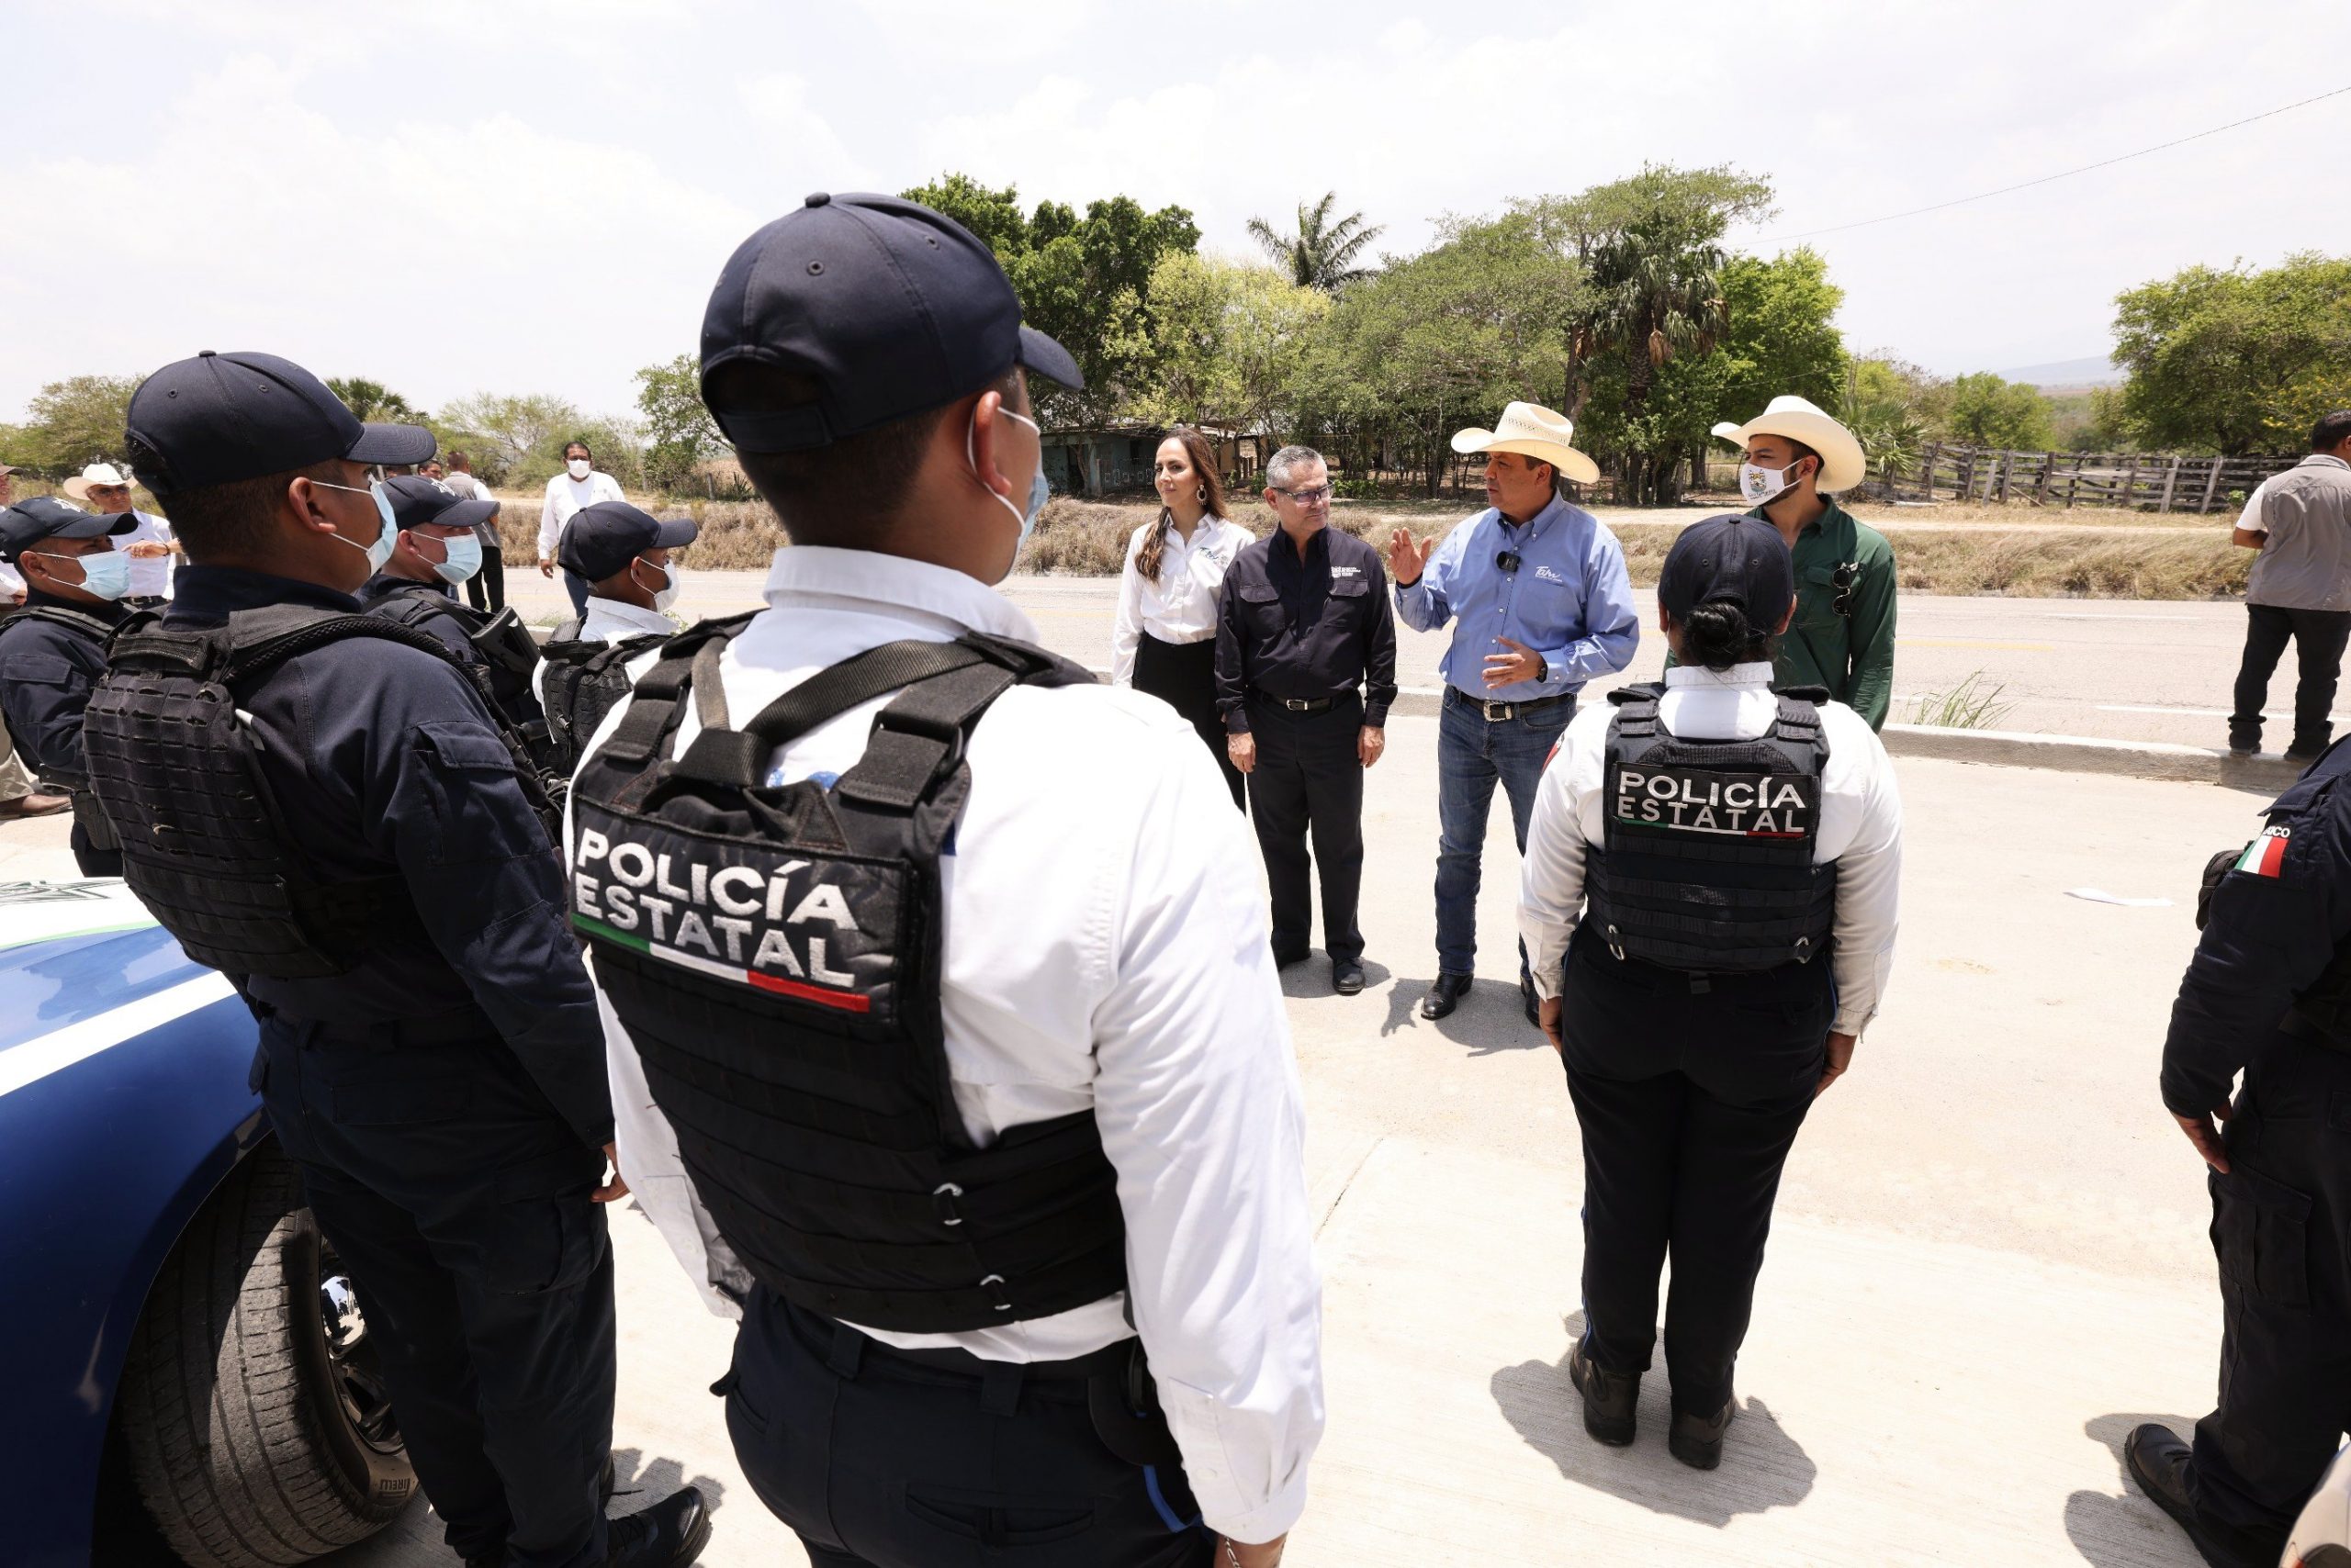
[[[2269,806],[2269,827],[2212,891],[2163,1041],[2163,1105],[2203,1117],[2351,938],[2351,745]]]

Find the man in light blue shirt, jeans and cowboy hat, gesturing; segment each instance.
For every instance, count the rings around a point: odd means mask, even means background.
[[[1526,851],[1542,764],[1575,717],[1585,682],[1615,675],[1641,644],[1625,550],[1599,517],[1568,505],[1559,480],[1592,484],[1599,465],[1568,444],[1575,425],[1531,402],[1493,430],[1460,430],[1453,451],[1486,454],[1486,510],[1444,541],[1396,529],[1387,571],[1396,614],[1420,632],[1455,623],[1439,665],[1436,722],[1436,983],[1422,1018],[1451,1013],[1476,964],[1476,889],[1493,788]],[[1535,1023],[1535,985],[1519,947],[1519,1001]]]

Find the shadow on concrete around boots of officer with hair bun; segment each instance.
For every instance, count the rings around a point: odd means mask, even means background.
[[[1568,1319],[1568,1331],[1582,1331],[1582,1314]],[[1585,1432],[1585,1401],[1568,1380],[1566,1356],[1556,1366],[1542,1361],[1505,1366],[1488,1387],[1512,1429],[1556,1465],[1561,1476],[1636,1502],[1653,1514],[1719,1530],[1740,1514],[1796,1507],[1810,1495],[1820,1474],[1761,1399],[1740,1401],[1740,1415],[1723,1439],[1721,1469],[1690,1469],[1676,1460],[1665,1448],[1674,1413],[1662,1368],[1641,1382],[1641,1434],[1629,1448],[1608,1448]]]

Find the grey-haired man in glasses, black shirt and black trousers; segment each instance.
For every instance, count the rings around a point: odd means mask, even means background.
[[[1248,816],[1274,903],[1274,964],[1312,940],[1307,835],[1321,875],[1331,990],[1364,990],[1364,771],[1387,750],[1396,701],[1396,614],[1380,552],[1331,527],[1331,470],[1312,447],[1265,463],[1279,529],[1225,571],[1215,705],[1225,750],[1248,773]]]

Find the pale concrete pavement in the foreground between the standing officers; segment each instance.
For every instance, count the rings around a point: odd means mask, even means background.
[[[1067,590],[1020,592],[1053,609]],[[1328,994],[1319,957],[1286,973],[1331,1399],[1293,1563],[2193,1566],[2118,1443],[2212,1396],[2203,1175],[2154,1077],[2196,872],[2257,802],[1928,759],[1900,778],[1893,992],[1796,1145],[1744,1413],[1700,1476],[1665,1453],[1662,1373],[1641,1441],[1606,1450],[1561,1371],[1582,1173],[1559,1063],[1519,1018],[1500,804],[1479,987],[1439,1025],[1413,1013],[1434,971],[1434,722],[1396,719],[1366,802],[1371,990]],[[63,820],[0,825],[0,877],[26,875],[71,875]],[[703,1392],[729,1328],[642,1215],[614,1237],[623,1476],[712,1490],[705,1561],[797,1563]],[[339,1559],[447,1561],[423,1509]]]

